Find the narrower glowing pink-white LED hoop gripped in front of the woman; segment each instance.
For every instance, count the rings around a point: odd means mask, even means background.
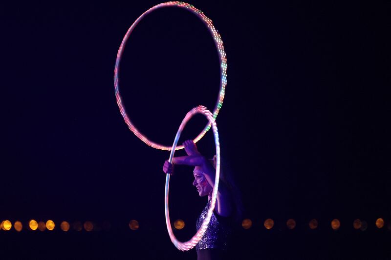
[[[213,187],[212,192],[212,201],[211,206],[208,210],[208,213],[206,215],[206,218],[204,219],[204,222],[202,222],[201,227],[198,229],[197,233],[187,242],[180,242],[178,241],[173,233],[173,229],[171,228],[171,222],[170,222],[170,213],[168,210],[168,190],[170,186],[170,174],[167,174],[166,176],[166,190],[164,193],[164,209],[166,213],[166,224],[167,224],[167,230],[168,234],[170,235],[171,241],[174,243],[175,247],[178,248],[181,251],[187,251],[195,247],[195,245],[198,243],[198,241],[202,238],[204,235],[206,229],[208,228],[209,221],[211,220],[213,210],[215,209],[216,205],[216,199],[217,199],[217,190],[218,190],[218,181],[220,180],[220,142],[218,140],[218,131],[217,131],[217,125],[215,118],[213,117],[213,114],[204,106],[197,106],[190,110],[189,113],[187,113],[186,117],[182,120],[182,123],[179,126],[178,132],[176,133],[175,140],[173,147],[171,149],[170,154],[170,163],[173,162],[174,153],[175,153],[175,146],[178,143],[180,134],[182,133],[183,128],[185,127],[187,121],[189,121],[195,114],[203,114],[207,119],[209,120],[209,124],[212,126],[213,134],[215,136],[215,145],[216,145],[216,157],[217,157],[217,163],[216,163],[216,179],[215,179],[215,186]]]

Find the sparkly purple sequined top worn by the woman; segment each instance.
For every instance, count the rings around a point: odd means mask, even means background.
[[[211,200],[208,201],[208,204],[206,204],[197,220],[197,230],[201,227],[210,206]],[[229,218],[221,217],[213,212],[208,229],[205,231],[202,239],[195,245],[195,249],[218,248],[225,250],[227,248],[227,240],[230,234],[231,228],[229,225]]]

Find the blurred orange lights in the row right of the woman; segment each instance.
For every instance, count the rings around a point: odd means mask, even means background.
[[[244,219],[241,223],[242,227],[244,229],[249,229],[251,228],[253,222],[250,220],[250,219]],[[375,225],[377,228],[383,228],[384,227],[384,220],[382,218],[379,218],[376,220],[375,222]],[[266,228],[266,229],[272,229],[273,226],[274,226],[274,220],[272,219],[267,219],[263,222],[263,226]],[[331,220],[330,222],[330,226],[333,230],[338,230],[340,227],[341,227],[341,221],[338,220],[338,219],[334,219],[334,220]],[[293,220],[293,219],[289,219],[286,221],[286,227],[288,229],[294,229],[296,227],[296,221]],[[308,227],[310,229],[316,229],[318,227],[318,220],[316,219],[313,219],[313,220],[310,220],[308,222]],[[367,221],[365,220],[354,220],[353,221],[353,228],[354,229],[360,229],[362,231],[365,231],[367,230],[368,228],[368,223]],[[391,222],[390,224],[388,225],[388,228],[391,230]]]

